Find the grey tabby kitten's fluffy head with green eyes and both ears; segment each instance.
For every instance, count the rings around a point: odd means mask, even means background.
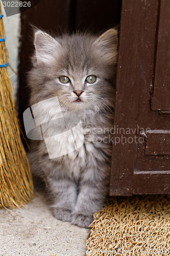
[[[53,38],[35,32],[30,72],[33,101],[57,96],[64,110],[99,111],[113,106],[117,31]],[[35,103],[35,102],[32,102]]]

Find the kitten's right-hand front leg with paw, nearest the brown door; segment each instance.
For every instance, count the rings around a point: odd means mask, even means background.
[[[72,213],[71,223],[88,228],[93,221],[93,214],[102,208],[108,192],[108,166],[99,163],[98,168],[91,167],[85,171],[80,183],[80,192]]]

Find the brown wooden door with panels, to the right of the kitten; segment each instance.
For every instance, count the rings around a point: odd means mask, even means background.
[[[123,0],[110,195],[170,193],[170,1]]]

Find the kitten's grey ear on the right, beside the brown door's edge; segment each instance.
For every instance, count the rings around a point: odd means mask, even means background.
[[[106,59],[112,62],[117,60],[118,31],[109,29],[95,40],[94,46],[100,50]]]

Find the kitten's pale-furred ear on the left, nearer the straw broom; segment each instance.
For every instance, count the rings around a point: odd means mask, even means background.
[[[61,47],[52,36],[41,30],[35,32],[34,46],[38,63],[51,63],[54,59],[54,52]]]

